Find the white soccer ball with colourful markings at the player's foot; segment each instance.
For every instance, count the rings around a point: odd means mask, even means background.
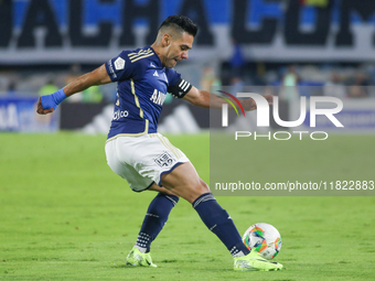
[[[274,259],[281,249],[281,236],[271,225],[258,223],[244,234],[243,241],[249,250],[258,251],[265,259]]]

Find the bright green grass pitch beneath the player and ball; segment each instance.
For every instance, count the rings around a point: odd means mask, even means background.
[[[208,134],[170,140],[208,181]],[[334,171],[351,164],[375,180],[375,138],[345,140]],[[233,271],[225,247],[181,199],[151,248],[159,267],[131,268],[125,259],[156,194],[131,192],[110,171],[105,137],[1,133],[0,143],[0,280],[374,280],[375,197],[218,196],[240,234],[259,221],[279,229],[279,272]],[[301,153],[297,145],[291,162]]]

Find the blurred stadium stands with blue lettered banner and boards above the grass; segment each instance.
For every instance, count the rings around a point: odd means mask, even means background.
[[[200,88],[232,85],[239,91],[243,85],[297,83],[318,87],[312,95],[324,95],[323,87],[334,85],[339,97],[375,96],[368,87],[375,77],[373,1],[14,0],[1,1],[0,7],[0,129],[4,131],[85,128],[106,133],[111,119],[111,107],[106,105],[114,101],[115,84],[66,100],[60,126],[56,117],[50,127],[50,120],[41,118],[32,126],[36,117],[26,110],[32,102],[25,100],[63,87],[122,48],[151,44],[162,19],[174,13],[188,14],[200,25],[190,60],[176,66]],[[350,85],[368,88],[340,90]],[[167,100],[162,132],[207,129],[205,110],[175,111],[179,105]],[[164,119],[173,114],[174,118]],[[180,120],[184,115],[189,122]],[[375,127],[374,121],[369,127]]]

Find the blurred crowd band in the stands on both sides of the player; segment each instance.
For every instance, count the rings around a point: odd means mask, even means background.
[[[276,64],[246,62],[240,48],[235,48],[227,62],[207,64],[201,67],[201,89],[211,90],[213,86],[231,86],[232,93],[240,93],[244,86],[299,87],[298,95],[325,95],[338,98],[375,97],[375,64]],[[75,77],[94,67],[83,69],[74,64],[62,69],[0,71],[0,96],[47,95],[62,88]],[[31,71],[32,69],[32,71]],[[182,75],[186,75],[182,72]],[[192,82],[193,83],[193,82]],[[307,90],[309,87],[311,90]],[[313,89],[313,90],[312,90]],[[116,98],[116,84],[90,87],[74,95],[69,102],[113,102]],[[290,99],[292,91],[271,93],[282,99]],[[167,99],[170,102],[170,99]]]

